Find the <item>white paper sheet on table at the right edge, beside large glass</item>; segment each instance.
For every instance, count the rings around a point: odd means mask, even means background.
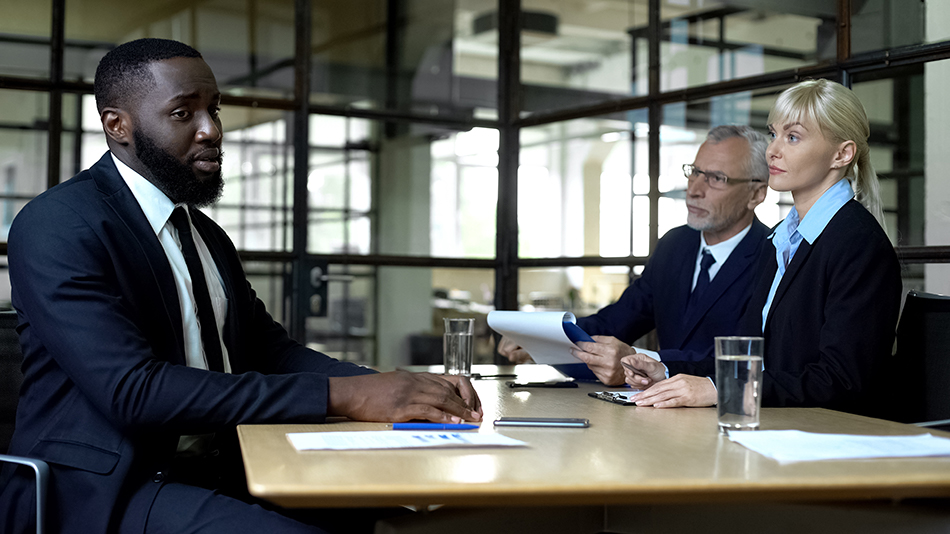
[[[800,430],[756,430],[730,432],[729,439],[780,463],[950,456],[950,439],[931,434],[857,436]]]

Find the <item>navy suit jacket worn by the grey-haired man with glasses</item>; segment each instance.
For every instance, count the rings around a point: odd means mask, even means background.
[[[657,243],[653,257],[620,300],[577,324],[590,335],[614,336],[632,344],[656,328],[663,361],[702,357],[713,337],[735,332],[755,278],[768,228],[758,219],[719,269],[698,306],[685,317],[692,289],[700,233],[680,226]]]

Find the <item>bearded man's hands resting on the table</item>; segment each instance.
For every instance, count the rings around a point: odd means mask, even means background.
[[[355,421],[481,421],[482,405],[464,376],[394,371],[331,377],[328,415]]]

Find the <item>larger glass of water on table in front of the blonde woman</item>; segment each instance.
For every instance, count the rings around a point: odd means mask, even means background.
[[[719,429],[756,430],[762,406],[761,337],[716,338]]]

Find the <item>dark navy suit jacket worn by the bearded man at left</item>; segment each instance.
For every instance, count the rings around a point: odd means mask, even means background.
[[[224,231],[192,216],[224,280],[233,374],[185,365],[171,268],[108,153],[13,223],[24,381],[10,453],[50,464],[52,531],[114,532],[121,517],[123,531],[142,532],[179,435],[321,422],[327,377],[371,372],[291,340]],[[22,529],[30,483],[15,476],[0,493],[0,530]]]

